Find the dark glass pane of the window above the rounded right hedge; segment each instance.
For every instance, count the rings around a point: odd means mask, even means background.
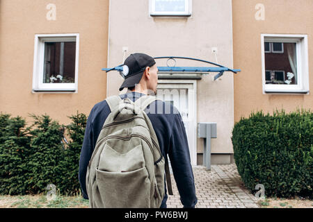
[[[280,49],[284,53],[265,53],[265,69],[266,71],[273,70],[271,80],[266,77],[266,84],[296,85],[298,81],[296,43],[278,43],[276,46],[273,44],[273,48],[279,49],[278,45],[283,47]]]

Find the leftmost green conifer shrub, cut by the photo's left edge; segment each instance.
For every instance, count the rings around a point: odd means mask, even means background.
[[[9,119],[0,115],[0,193],[26,194],[29,167],[27,157],[31,154],[28,129],[22,117]]]

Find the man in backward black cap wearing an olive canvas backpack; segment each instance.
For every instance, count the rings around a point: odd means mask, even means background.
[[[128,92],[90,111],[79,162],[90,207],[166,207],[166,184],[172,194],[167,156],[182,205],[197,203],[182,117],[174,106],[149,96],[157,94],[157,72],[154,58],[131,54],[120,87]]]

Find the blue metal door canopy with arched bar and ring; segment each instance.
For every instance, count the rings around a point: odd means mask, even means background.
[[[158,67],[159,73],[169,73],[169,74],[209,74],[211,72],[218,72],[216,76],[214,76],[214,80],[217,80],[220,78],[220,76],[223,76],[225,71],[232,71],[234,74],[237,74],[237,72],[241,71],[240,69],[230,69],[227,67],[224,67],[223,65],[216,64],[214,62],[209,62],[206,60],[199,60],[196,58],[187,58],[187,57],[177,57],[177,56],[163,56],[163,57],[155,57],[154,59],[165,59],[167,58],[168,60],[166,61],[167,67]],[[184,59],[184,60],[195,60],[198,62],[205,62],[209,63],[211,65],[215,65],[216,67],[176,67],[176,60],[177,59]],[[174,65],[170,66],[169,62],[170,60],[174,61]],[[119,65],[117,67],[113,68],[106,68],[102,69],[103,71],[109,72],[109,71],[119,71],[120,75],[125,78],[125,76],[122,74],[123,67],[122,65]]]

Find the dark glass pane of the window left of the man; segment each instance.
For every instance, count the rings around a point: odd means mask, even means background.
[[[75,83],[76,42],[45,42],[43,83]]]

